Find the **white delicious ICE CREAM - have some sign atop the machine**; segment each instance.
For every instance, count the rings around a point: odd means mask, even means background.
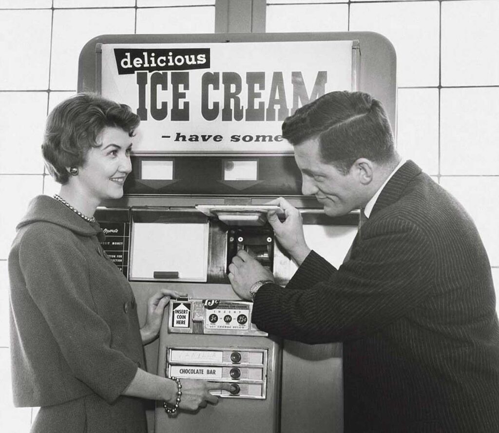
[[[135,152],[276,152],[297,108],[356,90],[358,43],[111,43],[101,59],[102,95],[141,118]]]

